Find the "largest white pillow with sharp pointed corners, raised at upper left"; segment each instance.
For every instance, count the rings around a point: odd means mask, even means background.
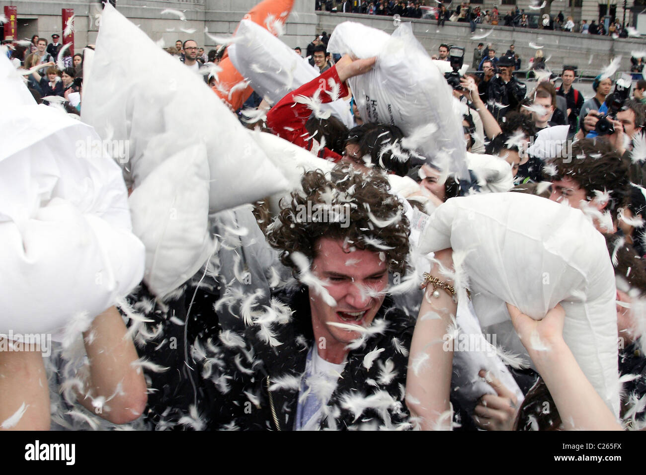
[[[127,43],[136,43],[138,54],[122,54]],[[115,158],[130,171],[134,187],[167,157],[194,143],[207,151],[211,212],[254,202],[286,185],[202,76],[157,47],[110,5],[101,16],[82,110],[83,121],[103,140],[127,143],[129,156]]]

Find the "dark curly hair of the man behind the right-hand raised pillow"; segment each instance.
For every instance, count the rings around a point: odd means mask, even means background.
[[[605,140],[579,140],[572,147],[572,156],[558,156],[550,163],[556,165],[556,176],[552,180],[561,180],[564,176],[572,178],[585,190],[589,200],[595,198],[595,191],[609,191],[610,201],[606,209],[612,218],[616,217],[617,210],[629,196],[628,165]]]

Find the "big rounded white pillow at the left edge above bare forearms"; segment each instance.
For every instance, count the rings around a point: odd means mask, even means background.
[[[0,149],[0,333],[62,341],[72,321],[141,281],[127,190],[119,166],[90,146],[94,130],[53,107],[17,107],[0,128],[11,132]]]

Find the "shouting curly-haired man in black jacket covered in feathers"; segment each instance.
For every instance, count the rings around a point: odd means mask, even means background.
[[[211,428],[412,427],[402,388],[414,321],[386,295],[389,273],[406,272],[409,224],[386,176],[362,168],[307,172],[267,229],[300,286],[244,338],[220,335],[209,359],[229,364],[211,379],[229,403]]]

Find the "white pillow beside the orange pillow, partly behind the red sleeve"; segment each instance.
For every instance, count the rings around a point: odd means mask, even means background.
[[[306,59],[253,21],[242,20],[236,37],[243,39],[227,48],[231,62],[253,89],[271,103],[280,101],[288,92],[320,74]],[[346,101],[339,99],[322,107],[329,109],[348,129],[354,127],[354,118]]]

